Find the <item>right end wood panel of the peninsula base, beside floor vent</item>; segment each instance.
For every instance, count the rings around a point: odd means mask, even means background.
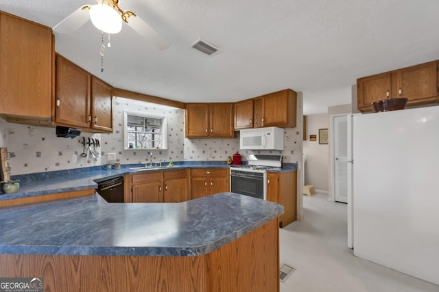
[[[207,254],[207,291],[279,291],[278,221]]]

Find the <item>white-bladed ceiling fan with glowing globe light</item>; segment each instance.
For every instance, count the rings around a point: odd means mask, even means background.
[[[129,10],[119,8],[119,0],[97,0],[95,5],[83,5],[72,14],[64,18],[54,27],[54,31],[60,34],[70,33],[79,29],[88,20],[93,25],[108,34],[117,34],[121,31],[122,23],[127,23],[143,38],[149,40],[158,49],[164,50],[170,46],[170,42],[161,34],[148,25],[143,19]]]

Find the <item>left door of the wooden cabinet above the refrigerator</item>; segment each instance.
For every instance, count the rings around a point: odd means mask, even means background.
[[[372,110],[371,103],[390,96],[392,75],[382,73],[357,79],[357,105],[360,111]]]

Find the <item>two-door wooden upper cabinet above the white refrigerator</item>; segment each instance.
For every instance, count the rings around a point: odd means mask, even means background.
[[[357,79],[357,106],[371,111],[371,103],[385,98],[408,98],[408,105],[438,101],[436,61]]]

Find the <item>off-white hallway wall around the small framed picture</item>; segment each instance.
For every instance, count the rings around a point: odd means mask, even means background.
[[[329,115],[307,116],[307,140],[303,142],[305,162],[305,185],[313,185],[322,191],[329,190],[329,144],[319,144],[318,130],[329,129]],[[309,135],[317,135],[316,141],[309,141]]]

